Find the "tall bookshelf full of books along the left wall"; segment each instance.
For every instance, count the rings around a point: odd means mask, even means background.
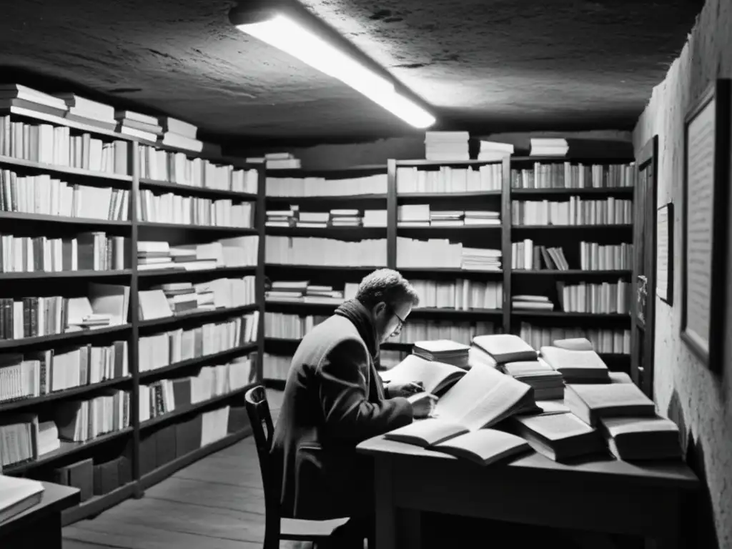
[[[5,373],[25,376],[12,386],[6,380],[0,428],[23,433],[28,443],[5,456],[12,463],[2,473],[81,482],[81,504],[64,512],[63,523],[69,524],[141,497],[179,468],[250,433],[243,395],[261,379],[264,351],[264,166],[157,146],[27,108],[4,109],[0,121],[26,128],[45,124],[44,130],[27,131],[52,132],[56,152],[63,148],[61,135],[66,146],[74,138],[96,140],[102,157],[111,155],[100,165],[84,145],[71,161],[40,162],[28,160],[48,160],[40,145],[29,151],[0,140],[0,360]],[[198,173],[206,184],[160,176],[160,165],[152,173],[149,157],[163,152],[170,153],[165,162]],[[240,178],[236,185],[235,177]],[[39,200],[45,193],[51,199]],[[103,236],[94,236],[99,233]],[[184,247],[224,240],[236,247],[244,242],[232,241],[239,237],[257,242],[247,241],[245,261],[228,261],[227,255],[228,266],[147,270],[138,265],[143,242]],[[228,281],[214,282],[220,279]],[[213,308],[143,319],[138,311],[148,307],[146,292],[173,283],[195,285],[198,295],[236,299],[227,306],[215,297]],[[77,299],[88,297],[90,305],[99,305],[92,307],[98,314],[106,309],[94,292],[121,287],[127,288],[120,294],[126,295],[124,318],[94,327],[76,323]],[[68,331],[72,322],[81,327]],[[165,356],[152,354],[163,348]],[[172,408],[165,393],[182,406]],[[91,404],[74,404],[82,401]],[[94,428],[80,427],[80,417],[95,414],[97,419],[86,422]],[[75,441],[53,447],[48,421],[77,425],[77,432],[64,436]],[[223,422],[226,432],[211,435],[206,425],[215,422]]]

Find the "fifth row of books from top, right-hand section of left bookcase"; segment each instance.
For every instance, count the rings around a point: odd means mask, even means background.
[[[255,342],[258,321],[258,313],[250,313],[195,328],[141,336],[138,341],[139,370],[150,372]]]

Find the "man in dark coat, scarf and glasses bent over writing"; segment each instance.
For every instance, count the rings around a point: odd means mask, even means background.
[[[432,395],[410,403],[406,397],[420,387],[384,387],[375,367],[381,343],[400,333],[418,304],[402,275],[379,269],[293,356],[272,447],[282,466],[282,515],[351,517],[334,547],[362,547],[373,528],[373,471],[356,445],[432,411]]]

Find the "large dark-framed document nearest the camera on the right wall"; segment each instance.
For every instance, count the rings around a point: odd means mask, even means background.
[[[730,181],[730,81],[717,80],[684,122],[681,339],[722,369]]]

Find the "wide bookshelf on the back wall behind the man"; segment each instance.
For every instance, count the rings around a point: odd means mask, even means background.
[[[619,168],[619,165],[626,167]],[[471,174],[461,173],[467,168]],[[383,173],[381,166],[376,170]],[[280,172],[296,179],[313,175],[299,170],[270,171],[268,178]],[[327,175],[317,173],[321,177]],[[332,179],[362,175],[362,170],[354,168],[339,171],[337,175],[332,173]],[[564,187],[563,183],[560,186],[565,176],[572,187]],[[298,206],[294,211],[300,212],[328,212],[336,208],[367,209],[380,205],[386,209],[385,227],[346,229],[324,223],[317,228],[301,228],[288,223],[286,227],[268,227],[266,234],[354,241],[376,238],[378,231],[382,231],[386,238],[385,266],[397,269],[417,283],[423,305],[412,311],[406,333],[398,340],[384,343],[382,359],[384,354],[392,354],[396,360],[411,351],[415,340],[448,337],[468,343],[472,335],[479,333],[477,330],[490,329],[523,335],[536,346],[547,344],[549,338],[586,335],[612,370],[628,372],[632,255],[629,248],[621,249],[621,244],[633,242],[635,220],[630,212],[635,198],[635,178],[632,158],[513,156],[502,162],[389,160],[386,188],[380,182],[373,193],[361,188],[359,193],[353,190],[352,195],[313,192],[285,198],[272,196],[268,190],[266,196],[268,212],[290,210],[291,206]],[[448,180],[452,187],[446,184]],[[342,187],[346,184],[343,182]],[[455,192],[441,191],[450,188]],[[317,190],[315,184],[310,190]],[[523,224],[518,214],[536,217],[534,212],[539,206],[518,206],[519,201],[542,203],[540,207],[553,215],[543,220],[542,225]],[[530,210],[532,207],[534,212]],[[430,217],[433,212],[443,214]],[[471,212],[472,219],[469,224],[450,223],[451,212]],[[420,243],[427,239],[445,239],[449,244],[436,244],[430,249]],[[532,250],[532,259],[538,251],[542,269],[529,269],[516,262],[517,244],[528,241],[532,247],[535,243],[538,250]],[[460,246],[455,246],[458,243]],[[293,245],[305,245],[305,242]],[[561,248],[566,264],[560,265],[551,258],[551,264],[547,264],[539,247]],[[468,253],[460,255],[466,249]],[[480,250],[496,252],[486,255]],[[526,255],[525,250],[522,252]],[[318,253],[313,249],[310,255],[315,257]],[[302,257],[307,255],[304,253]],[[358,257],[359,261],[365,261],[364,253]],[[313,265],[300,263],[285,267],[268,261],[266,277],[271,281],[308,280],[311,285],[341,290],[345,283],[357,283],[378,266],[339,266],[321,260]],[[463,285],[463,295],[469,296],[468,301],[483,299],[482,306],[451,303],[456,285]],[[436,291],[435,287],[442,289]],[[440,291],[443,295],[438,295]],[[597,295],[594,301],[579,302],[575,298],[579,298],[580,292]],[[624,297],[619,299],[616,294],[623,292]],[[561,297],[572,298],[572,302],[562,307],[560,293]],[[526,294],[548,297],[552,305],[548,309],[517,307],[514,298]],[[600,302],[600,296],[605,302]],[[610,302],[610,296],[614,296],[614,302]],[[335,307],[336,299],[330,302],[307,302],[307,298],[304,302],[266,300],[269,315],[266,323],[272,326],[266,331],[264,348],[277,370],[277,375],[270,375],[265,366],[266,380],[283,381],[287,358],[300,337],[310,326],[332,314]],[[280,327],[275,323],[280,323]]]

